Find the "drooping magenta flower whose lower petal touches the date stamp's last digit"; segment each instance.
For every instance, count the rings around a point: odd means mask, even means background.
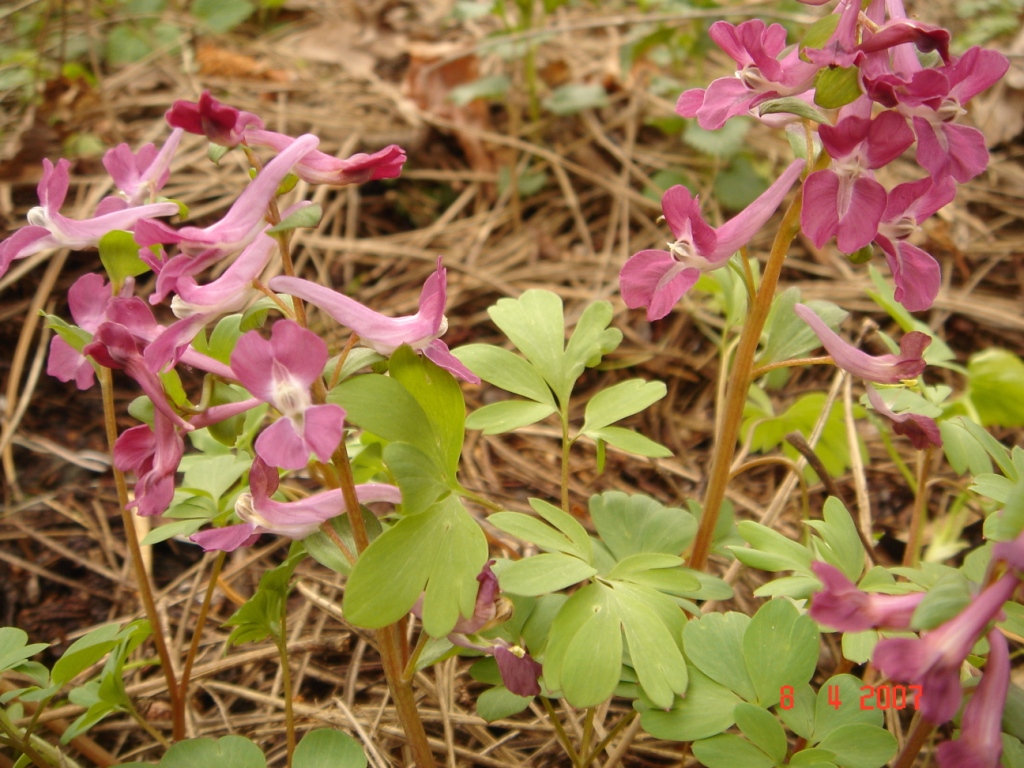
[[[941,725],[956,714],[964,697],[961,665],[1019,584],[1017,577],[1007,574],[971,601],[959,615],[922,633],[920,638],[880,640],[874,646],[874,666],[893,680],[921,685],[922,716]]]

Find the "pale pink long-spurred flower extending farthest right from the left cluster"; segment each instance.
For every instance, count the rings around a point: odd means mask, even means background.
[[[270,281],[270,289],[318,306],[351,329],[359,341],[378,354],[388,356],[402,344],[408,344],[453,376],[479,384],[479,377],[456,359],[439,338],[447,330],[447,318],[444,317],[446,281],[446,270],[438,257],[437,270],[423,284],[419,311],[407,317],[388,317],[344,294],[300,278],[274,278]]]

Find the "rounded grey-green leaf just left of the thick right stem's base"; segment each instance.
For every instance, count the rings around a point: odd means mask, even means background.
[[[697,529],[696,518],[686,510],[617,490],[592,496],[590,516],[616,560],[644,552],[679,555]]]

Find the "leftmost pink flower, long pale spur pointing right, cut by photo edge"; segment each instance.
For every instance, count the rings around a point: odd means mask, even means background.
[[[0,243],[0,276],[6,273],[15,259],[54,248],[90,248],[108,232],[116,229],[130,231],[139,219],[173,216],[178,212],[174,203],[153,203],[81,221],[61,216],[60,207],[68,196],[69,168],[71,163],[63,159],[56,166],[49,160],[43,161],[43,177],[36,187],[40,205],[29,211],[29,226],[22,227]]]

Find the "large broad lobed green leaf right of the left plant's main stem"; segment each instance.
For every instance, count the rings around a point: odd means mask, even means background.
[[[480,526],[455,497],[400,519],[366,549],[345,588],[349,622],[378,629],[404,616],[421,593],[423,628],[443,637],[471,616],[487,559]]]

